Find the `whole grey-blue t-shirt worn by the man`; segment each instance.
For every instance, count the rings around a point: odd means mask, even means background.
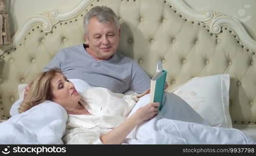
[[[81,79],[114,93],[129,89],[143,93],[150,88],[150,77],[133,59],[116,53],[109,60],[96,60],[83,44],[60,50],[43,71],[50,68],[60,68],[68,79]]]

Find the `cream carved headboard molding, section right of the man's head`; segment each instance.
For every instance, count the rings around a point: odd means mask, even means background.
[[[256,41],[251,38],[245,27],[237,19],[208,9],[201,11],[194,10],[181,0],[168,0],[168,2],[172,4],[178,12],[188,17],[189,19],[197,20],[206,24],[210,31],[214,34],[220,33],[222,27],[231,28],[237,33],[242,45],[245,45],[247,48],[256,51]]]

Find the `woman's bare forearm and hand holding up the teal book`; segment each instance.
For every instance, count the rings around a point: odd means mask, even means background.
[[[113,128],[107,134],[100,136],[103,144],[121,144],[126,136],[139,124],[147,121],[158,114],[159,103],[148,103],[139,108],[130,118],[121,125]]]

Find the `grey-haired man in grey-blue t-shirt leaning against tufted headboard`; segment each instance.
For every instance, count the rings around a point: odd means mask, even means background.
[[[150,78],[131,58],[117,53],[120,25],[114,12],[96,6],[84,17],[86,44],[62,49],[44,68],[60,68],[69,79],[81,79],[114,93],[133,90],[143,93],[150,88]]]

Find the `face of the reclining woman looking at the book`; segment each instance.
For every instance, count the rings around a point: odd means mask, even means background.
[[[81,98],[73,83],[69,82],[67,77],[60,73],[55,74],[51,85],[53,95],[51,100],[66,109],[74,108]]]

